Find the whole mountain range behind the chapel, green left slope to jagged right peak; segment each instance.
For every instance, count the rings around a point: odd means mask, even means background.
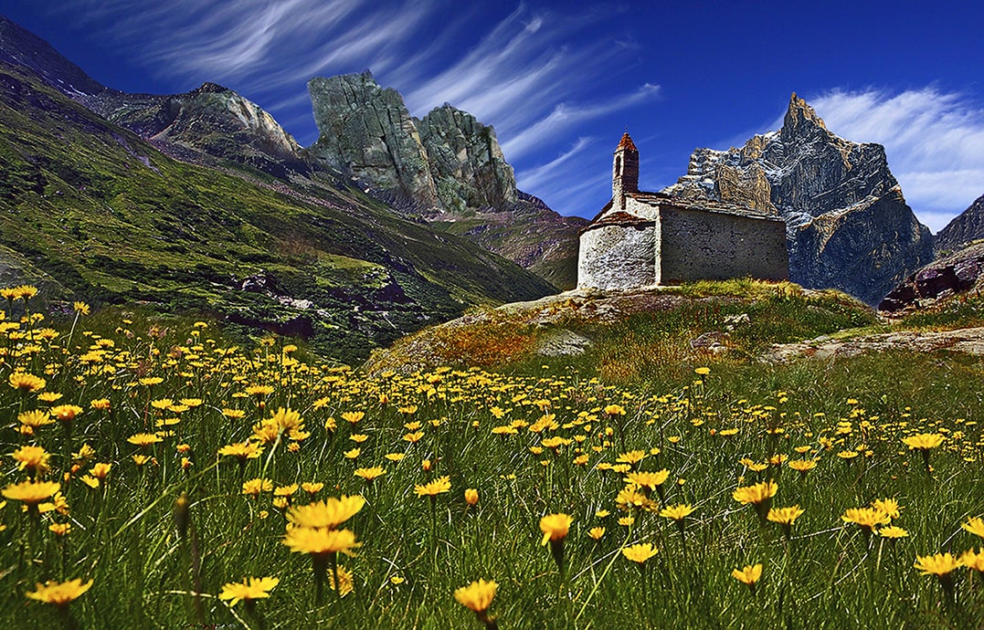
[[[302,147],[231,89],[114,90],[0,17],[0,281],[299,330],[346,360],[574,286],[587,221],[518,190],[491,127],[450,104],[413,118],[369,72],[308,87]],[[782,216],[794,281],[872,304],[933,258],[884,148],[795,94],[779,131],[697,149],[667,192]]]

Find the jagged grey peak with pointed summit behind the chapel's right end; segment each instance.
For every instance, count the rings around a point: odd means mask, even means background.
[[[697,149],[687,175],[665,192],[782,216],[790,279],[869,304],[933,259],[932,235],[905,203],[885,148],[830,133],[796,94],[778,132],[740,149]]]

